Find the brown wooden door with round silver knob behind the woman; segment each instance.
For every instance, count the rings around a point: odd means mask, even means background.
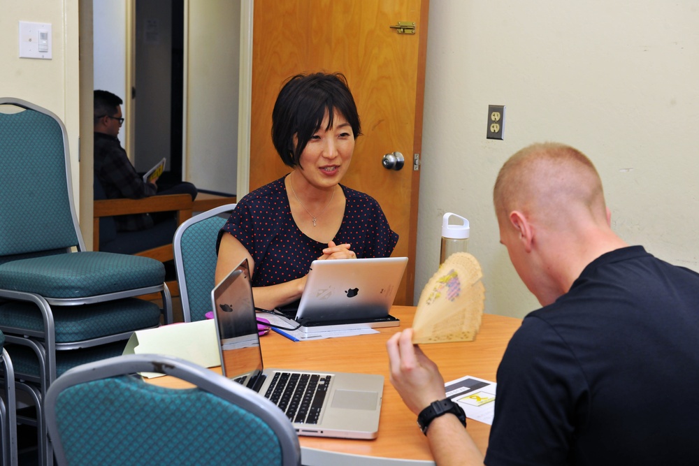
[[[361,119],[348,187],[373,196],[408,256],[396,304],[413,302],[428,0],[255,0],[252,36],[250,191],[289,172],[271,142],[272,108],[296,73],[344,73]],[[415,23],[415,34],[391,26]],[[384,154],[405,166],[387,170]]]

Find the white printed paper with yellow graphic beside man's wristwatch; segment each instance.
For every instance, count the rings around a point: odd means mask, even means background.
[[[447,397],[459,403],[466,417],[493,425],[495,416],[495,382],[466,375],[444,384]]]

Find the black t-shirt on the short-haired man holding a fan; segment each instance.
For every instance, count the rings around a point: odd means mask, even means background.
[[[487,465],[699,464],[699,275],[626,247],[528,314]]]

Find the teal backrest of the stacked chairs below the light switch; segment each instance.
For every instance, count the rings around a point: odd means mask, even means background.
[[[0,98],[0,256],[77,246],[66,127],[52,112]]]

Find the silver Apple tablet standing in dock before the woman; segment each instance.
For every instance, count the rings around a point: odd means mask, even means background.
[[[389,314],[407,257],[313,261],[298,309],[283,309],[304,332],[394,327]]]

